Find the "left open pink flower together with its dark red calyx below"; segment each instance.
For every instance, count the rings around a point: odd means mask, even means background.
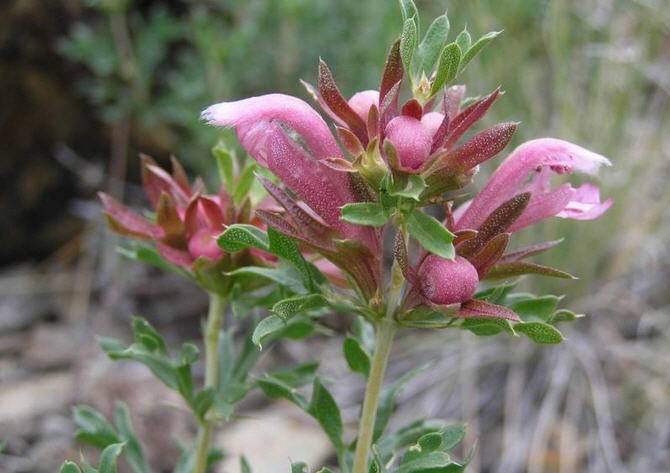
[[[379,232],[340,218],[342,206],[368,200],[369,196],[350,173],[324,164],[328,158],[342,158],[342,154],[319,114],[300,99],[270,94],[216,104],[202,116],[213,125],[234,127],[249,155],[307,206],[261,179],[285,213],[259,211],[258,215],[319,251],[372,296],[380,284]],[[348,243],[340,245],[336,240]]]

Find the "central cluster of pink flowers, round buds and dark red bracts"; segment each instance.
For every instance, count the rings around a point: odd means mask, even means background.
[[[509,143],[517,123],[494,125],[461,142],[502,95],[499,89],[465,107],[464,86],[447,88],[441,101],[439,96],[424,103],[410,98],[399,105],[404,75],[399,48],[396,43],[391,50],[379,91],[358,92],[346,100],[323,61],[318,87],[306,84],[332,118],[346,154],[321,116],[295,97],[271,94],[219,103],[202,116],[211,124],[234,127],[246,151],[290,191],[264,180],[284,210],[260,211],[259,217],[339,266],[365,297],[375,300],[381,291],[382,232],[347,221],[342,208],[380,202],[382,211],[402,220],[408,201],[410,209],[441,203],[447,208],[445,226],[454,236],[455,257],[424,251],[416,267],[403,264],[412,284],[404,307],[456,304],[461,317],[516,320],[508,309],[472,299],[479,282],[529,273],[571,277],[523,261],[557,242],[506,252],[510,236],[552,216],[588,220],[602,215],[612,202],[601,202],[595,185],[552,188],[550,179],[553,173],[595,174],[609,161],[566,141],[529,141],[509,155],[472,200],[452,211],[445,192],[469,184],[479,165]],[[404,198],[408,194],[398,192],[398,186],[417,178],[419,191]],[[391,204],[389,197],[395,199]]]

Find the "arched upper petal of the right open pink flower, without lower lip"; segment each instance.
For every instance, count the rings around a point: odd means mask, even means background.
[[[526,224],[537,221],[536,217],[543,218],[549,212],[549,209],[540,206],[540,201],[537,200],[540,198],[538,194],[546,193],[549,187],[548,170],[560,174],[571,173],[574,170],[595,174],[600,166],[610,164],[607,158],[567,141],[554,138],[528,141],[516,148],[500,165],[457,221],[456,229],[478,228],[492,210],[524,190],[523,184],[528,174],[532,172],[539,173],[528,186],[533,193],[531,204],[533,199],[536,199],[536,203],[529,205],[533,213],[527,218]],[[555,204],[547,200],[543,202],[546,205]],[[559,209],[553,215],[562,210]]]

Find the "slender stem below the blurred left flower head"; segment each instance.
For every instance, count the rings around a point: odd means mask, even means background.
[[[216,387],[219,383],[219,335],[226,312],[226,299],[220,294],[209,294],[209,313],[205,327],[205,387]],[[195,466],[193,473],[205,473],[209,453],[213,421],[207,416],[200,421],[196,439]]]

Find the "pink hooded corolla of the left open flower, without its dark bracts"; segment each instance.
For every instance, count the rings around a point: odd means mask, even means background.
[[[377,247],[372,229],[340,219],[340,208],[359,199],[347,173],[320,162],[342,154],[326,122],[307,103],[269,94],[212,105],[202,117],[234,127],[246,151],[344,238]]]

